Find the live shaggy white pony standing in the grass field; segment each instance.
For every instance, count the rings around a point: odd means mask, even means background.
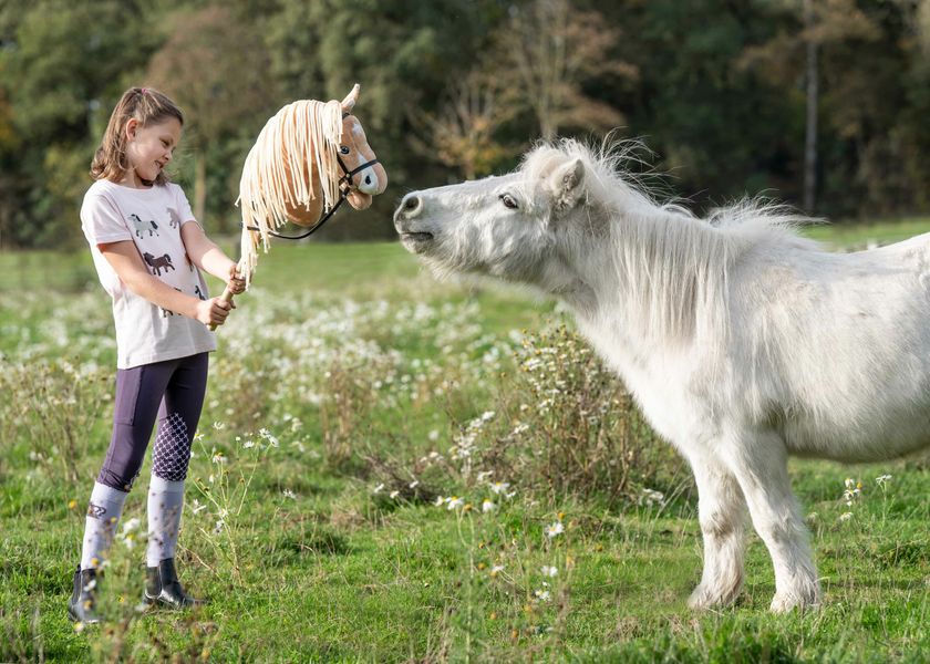
[[[747,203],[657,205],[622,155],[564,141],[509,175],[407,194],[394,225],[440,276],[562,299],[694,471],[704,571],[690,605],[735,600],[743,526],[775,567],[772,610],[819,602],[788,455],[889,459],[930,446],[930,235],[838,255]]]

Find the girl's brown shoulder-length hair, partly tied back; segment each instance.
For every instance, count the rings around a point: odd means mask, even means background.
[[[130,169],[126,159],[126,123],[136,118],[141,126],[164,122],[170,117],[184,125],[184,113],[167,96],[152,87],[130,87],[113,108],[110,123],[103,133],[100,147],[91,163],[94,179],[118,181]],[[168,181],[164,170],[155,178],[156,185]]]

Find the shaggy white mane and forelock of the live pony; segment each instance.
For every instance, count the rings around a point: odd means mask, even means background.
[[[819,250],[797,228],[814,221],[764,198],[746,198],[694,216],[678,200],[660,203],[647,183],[653,174],[631,174],[623,165],[641,162],[638,141],[606,141],[590,147],[576,139],[540,144],[529,152],[520,172],[542,178],[569,159],[581,159],[588,214],[609,219],[608,256],[618,298],[643,333],[666,338],[726,330],[730,268],[754,247],[793,246]]]

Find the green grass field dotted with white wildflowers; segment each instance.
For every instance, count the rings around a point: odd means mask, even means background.
[[[768,613],[753,535],[740,603],[692,612],[689,473],[570,321],[525,291],[437,284],[388,243],[276,246],[218,332],[178,553],[211,603],[138,610],[146,464],[108,620],[75,630],[115,349],[86,257],[30,282],[17,269],[34,260],[0,255],[2,662],[930,660],[926,457],[793,463],[818,611]]]

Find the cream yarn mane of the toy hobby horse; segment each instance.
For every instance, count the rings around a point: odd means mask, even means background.
[[[342,105],[338,101],[301,100],[269,120],[246,157],[239,180],[242,208],[241,262],[246,280],[258,262],[258,243],[268,251],[270,231],[288,221],[287,207],[314,199],[316,166],[323,194],[323,212],[339,200],[338,149],[342,139]],[[312,159],[312,165],[311,160]],[[245,227],[255,227],[246,234]]]

